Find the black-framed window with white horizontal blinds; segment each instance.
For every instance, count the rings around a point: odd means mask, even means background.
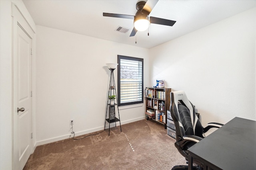
[[[143,103],[143,59],[118,55],[118,106]]]

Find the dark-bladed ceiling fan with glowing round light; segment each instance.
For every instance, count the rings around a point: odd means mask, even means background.
[[[146,0],[146,2],[145,1],[137,2],[136,4],[137,12],[135,16],[124,15],[124,14],[110,14],[110,13],[103,13],[103,16],[126,18],[126,19],[134,20],[134,27],[132,29],[130,37],[134,36],[137,31],[145,31],[146,29],[148,29],[150,23],[168,25],[168,26],[174,25],[176,21],[148,16],[157,2],[158,0]]]

